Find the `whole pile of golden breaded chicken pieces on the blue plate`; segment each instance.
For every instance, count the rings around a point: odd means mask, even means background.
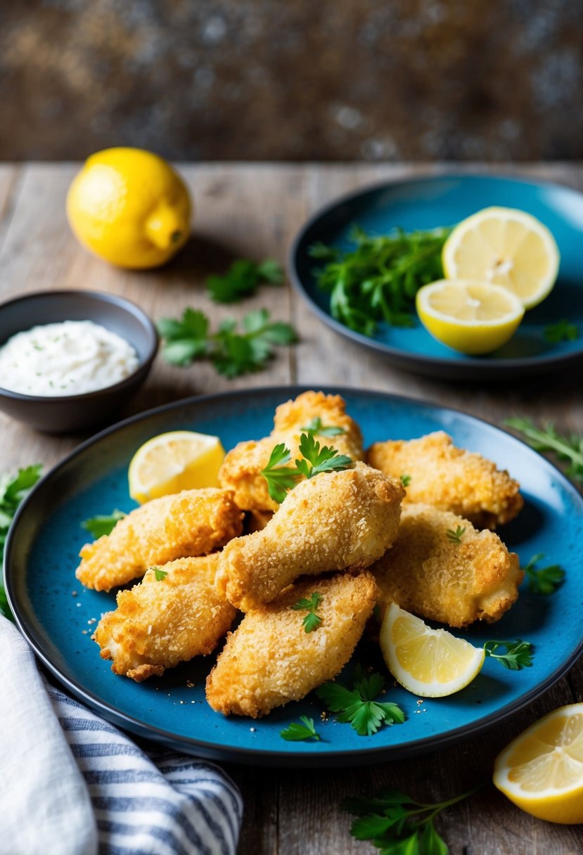
[[[350,462],[298,469],[278,501],[262,470],[280,443],[301,457],[305,433]],[[518,597],[518,557],[491,529],[521,510],[519,485],[445,433],[365,452],[339,395],[303,392],[227,453],[219,481],[153,499],[81,550],[87,587],[141,579],[93,635],[115,674],[143,681],[222,644],[209,705],[256,718],[338,675],[375,605],[462,628]]]

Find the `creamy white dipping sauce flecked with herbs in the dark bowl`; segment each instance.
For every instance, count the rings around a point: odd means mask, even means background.
[[[93,321],[62,321],[16,333],[0,348],[0,386],[24,395],[82,395],[138,368],[132,345]]]

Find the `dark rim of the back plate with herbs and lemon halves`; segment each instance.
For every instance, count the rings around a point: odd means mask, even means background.
[[[304,286],[303,281],[300,275],[297,272],[297,257],[299,255],[299,249],[302,245],[306,234],[315,227],[318,221],[324,220],[328,215],[332,214],[334,209],[341,207],[342,205],[353,203],[358,198],[362,198],[367,196],[368,194],[374,194],[376,192],[380,192],[383,190],[388,190],[394,186],[403,186],[403,185],[421,185],[423,183],[427,183],[427,181],[431,183],[437,183],[439,181],[444,180],[456,180],[456,181],[464,181],[464,180],[483,180],[483,181],[507,181],[510,184],[521,184],[529,187],[535,188],[552,188],[553,190],[560,190],[562,192],[567,192],[568,194],[572,194],[575,197],[580,199],[581,205],[583,206],[583,192],[576,190],[574,187],[559,184],[557,181],[552,181],[548,179],[540,179],[540,180],[532,180],[528,178],[521,178],[520,176],[506,176],[504,174],[480,174],[474,172],[468,173],[445,173],[445,174],[421,174],[411,176],[401,176],[396,179],[386,179],[379,180],[367,183],[360,187],[357,187],[355,190],[345,192],[340,196],[333,198],[332,201],[327,202],[321,205],[320,208],[316,209],[315,212],[309,215],[308,219],[303,222],[303,225],[298,229],[297,233],[294,235],[291,240],[291,245],[287,252],[286,257],[286,268],[289,280],[291,282],[291,286],[303,298],[304,302],[308,304],[309,310],[312,311],[317,317],[323,321],[327,327],[333,329],[335,333],[339,333],[339,335],[344,336],[347,339],[355,342],[357,345],[368,348],[369,350],[376,351],[380,353],[382,356],[386,357],[387,360],[391,362],[397,362],[405,368],[413,369],[415,371],[421,369],[431,368],[433,372],[438,374],[439,376],[447,377],[448,374],[450,376],[457,377],[480,377],[481,379],[496,378],[503,372],[514,371],[520,373],[522,375],[533,374],[535,372],[542,370],[553,371],[562,366],[570,366],[574,363],[578,363],[583,360],[583,339],[581,342],[580,350],[574,351],[571,353],[562,353],[555,354],[554,356],[547,357],[517,357],[511,359],[497,359],[492,363],[485,363],[480,359],[476,359],[475,357],[465,357],[462,362],[456,362],[453,359],[448,359],[446,357],[427,357],[422,354],[418,354],[412,351],[403,351],[398,347],[392,347],[392,345],[386,345],[384,342],[380,342],[377,339],[368,338],[368,336],[363,333],[358,333],[356,330],[350,329],[349,327],[345,327],[344,324],[337,321],[332,315],[329,315],[327,311],[321,309],[321,307],[315,303],[315,300],[310,296],[308,289]],[[436,369],[443,369],[443,373],[439,373]]]

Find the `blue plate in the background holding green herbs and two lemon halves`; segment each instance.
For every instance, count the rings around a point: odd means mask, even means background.
[[[374,338],[355,333],[330,314],[330,298],[316,285],[318,262],[309,256],[317,241],[349,249],[350,227],[357,223],[368,233],[385,234],[401,226],[410,232],[452,226],[488,205],[520,208],[538,217],[557,240],[561,267],[551,295],[527,312],[510,341],[484,357],[467,357],[433,339],[414,311],[415,326],[407,329],[381,324]],[[378,351],[399,368],[443,378],[509,379],[541,374],[583,362],[583,276],[580,246],[583,240],[583,195],[568,187],[545,182],[447,175],[439,178],[391,181],[358,191],[317,212],[291,246],[292,284],[311,310],[337,333]],[[580,330],[574,341],[550,344],[547,325],[572,321]]]

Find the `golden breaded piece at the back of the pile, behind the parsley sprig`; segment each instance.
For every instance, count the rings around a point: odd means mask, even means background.
[[[269,496],[267,481],[261,475],[268,464],[274,445],[285,442],[291,459],[299,456],[302,428],[320,419],[324,428],[341,428],[344,433],[327,437],[315,433],[321,445],[333,445],[339,454],[362,460],[362,433],[346,415],[344,398],[324,392],[303,392],[295,400],[280,404],[275,410],[274,429],[265,439],[239,442],[229,451],[219,472],[221,486],[235,492],[235,502],[243,510],[277,510],[279,504]]]

